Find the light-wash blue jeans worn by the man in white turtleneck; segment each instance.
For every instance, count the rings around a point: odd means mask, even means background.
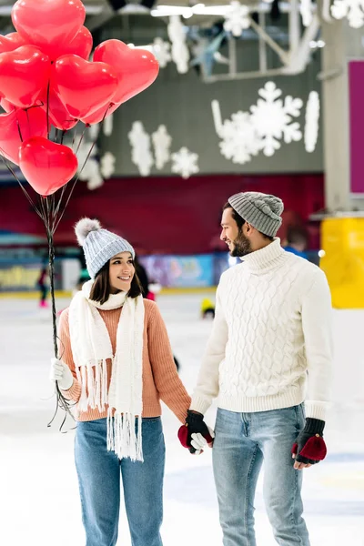
[[[302,470],[294,470],[290,452],[304,424],[303,404],[256,413],[217,410],[212,457],[224,546],[257,544],[254,497],[263,460],[264,501],[276,541],[309,546]]]

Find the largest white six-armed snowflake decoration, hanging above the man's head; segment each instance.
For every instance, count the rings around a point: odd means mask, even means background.
[[[259,89],[257,105],[250,106],[251,121],[258,136],[262,138],[260,148],[270,157],[281,146],[282,137],[286,144],[297,142],[302,138],[299,123],[292,122],[292,117],[300,115],[303,106],[300,98],[286,96],[284,102],[281,98],[282,91],[274,82],[267,82],[263,89]]]

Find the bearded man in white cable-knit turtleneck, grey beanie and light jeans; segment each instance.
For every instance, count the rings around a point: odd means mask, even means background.
[[[275,235],[282,212],[278,197],[256,192],[234,195],[224,207],[221,238],[243,261],[217,287],[211,336],[185,434],[179,433],[190,450],[211,442],[203,415],[217,397],[213,468],[224,546],[256,545],[254,497],[263,460],[276,541],[309,546],[299,470],[326,454],[329,286],[317,266],[281,248]]]

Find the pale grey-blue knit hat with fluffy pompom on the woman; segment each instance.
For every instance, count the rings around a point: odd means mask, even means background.
[[[84,248],[86,266],[91,278],[95,278],[106,262],[119,252],[130,252],[133,259],[136,256],[134,248],[126,239],[103,229],[98,220],[82,218],[76,223],[75,232],[78,244]]]

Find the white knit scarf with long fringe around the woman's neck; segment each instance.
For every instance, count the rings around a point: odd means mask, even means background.
[[[127,298],[126,292],[111,294],[106,303],[89,298],[93,281],[86,282],[69,308],[71,348],[76,376],[81,383],[78,410],[107,410],[107,450],[119,459],[143,460],[141,416],[143,410],[143,298]],[[106,324],[98,309],[123,307],[116,331],[113,355]],[[106,359],[112,360],[107,393]],[[113,410],[115,410],[114,418]],[[136,416],[138,417],[136,432]]]

